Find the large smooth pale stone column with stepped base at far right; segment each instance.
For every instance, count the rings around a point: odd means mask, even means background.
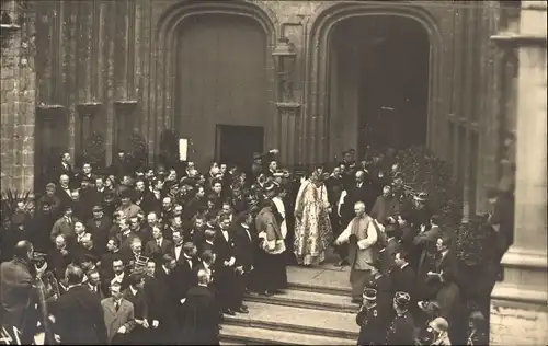
[[[522,1],[514,244],[491,299],[491,345],[547,345],[546,1]]]

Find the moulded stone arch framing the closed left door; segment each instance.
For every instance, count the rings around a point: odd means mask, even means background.
[[[150,68],[150,99],[148,127],[149,134],[155,139],[153,152],[158,152],[159,136],[164,128],[172,128],[174,125],[175,113],[175,68],[176,68],[176,33],[181,23],[189,19],[199,15],[224,14],[233,16],[243,16],[256,21],[266,35],[266,45],[264,47],[266,57],[269,57],[266,78],[269,84],[269,100],[276,100],[274,88],[275,73],[273,61],[271,61],[272,47],[277,36],[276,16],[266,8],[247,1],[172,1],[156,22],[156,35],[152,39],[152,51],[155,62]],[[275,122],[275,106],[269,103],[269,122]],[[266,146],[275,145],[275,136],[270,134],[275,126],[266,128]]]

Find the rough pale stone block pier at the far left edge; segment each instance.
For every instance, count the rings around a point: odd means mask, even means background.
[[[36,100],[34,11],[32,3],[20,7],[14,2],[4,1],[2,7],[2,11],[8,11],[12,18],[13,25],[2,25],[0,48],[1,189],[32,189]]]

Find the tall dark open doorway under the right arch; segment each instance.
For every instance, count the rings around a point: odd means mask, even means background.
[[[339,113],[352,114],[357,151],[426,145],[430,39],[416,21],[389,15],[349,19],[333,35]],[[339,97],[341,99],[341,96]],[[350,115],[346,115],[350,116]],[[351,120],[350,118],[347,120]],[[354,123],[355,122],[355,123]],[[357,135],[347,134],[357,129]],[[356,136],[356,137],[354,137]]]

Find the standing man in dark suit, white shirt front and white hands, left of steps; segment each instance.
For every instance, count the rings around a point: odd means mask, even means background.
[[[219,220],[220,230],[214,241],[214,252],[217,255],[217,278],[219,304],[222,312],[235,315],[239,307],[237,289],[235,289],[236,275],[236,246],[233,235],[230,234],[230,219],[224,216]]]

